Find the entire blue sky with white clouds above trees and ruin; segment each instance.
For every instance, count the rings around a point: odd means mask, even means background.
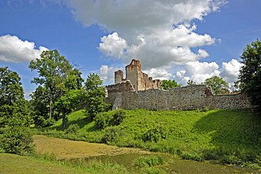
[[[37,87],[29,62],[58,50],[82,70],[114,83],[138,59],[153,79],[238,80],[244,47],[261,39],[260,0],[1,0],[0,66]]]

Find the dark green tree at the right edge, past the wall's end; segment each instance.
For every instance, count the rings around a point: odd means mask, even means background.
[[[261,41],[246,45],[241,55],[240,88],[250,96],[253,105],[261,105]]]

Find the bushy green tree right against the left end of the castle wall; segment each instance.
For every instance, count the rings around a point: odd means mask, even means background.
[[[88,117],[93,119],[97,113],[104,112],[106,103],[103,99],[105,98],[105,91],[102,87],[103,81],[97,74],[90,74],[87,76],[85,82],[85,113]]]

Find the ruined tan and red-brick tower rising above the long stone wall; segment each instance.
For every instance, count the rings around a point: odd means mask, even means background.
[[[150,88],[162,88],[162,81],[152,80],[147,74],[141,71],[141,64],[139,60],[133,59],[130,64],[125,67],[126,78],[123,78],[123,71],[118,70],[114,72],[114,83],[121,83],[129,80],[135,91],[144,91]]]

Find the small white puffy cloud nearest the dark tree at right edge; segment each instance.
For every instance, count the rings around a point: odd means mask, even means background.
[[[233,83],[238,81],[239,69],[243,66],[240,62],[236,59],[231,59],[230,62],[223,62],[222,63],[222,71],[221,76],[224,78],[224,81],[228,83]]]

